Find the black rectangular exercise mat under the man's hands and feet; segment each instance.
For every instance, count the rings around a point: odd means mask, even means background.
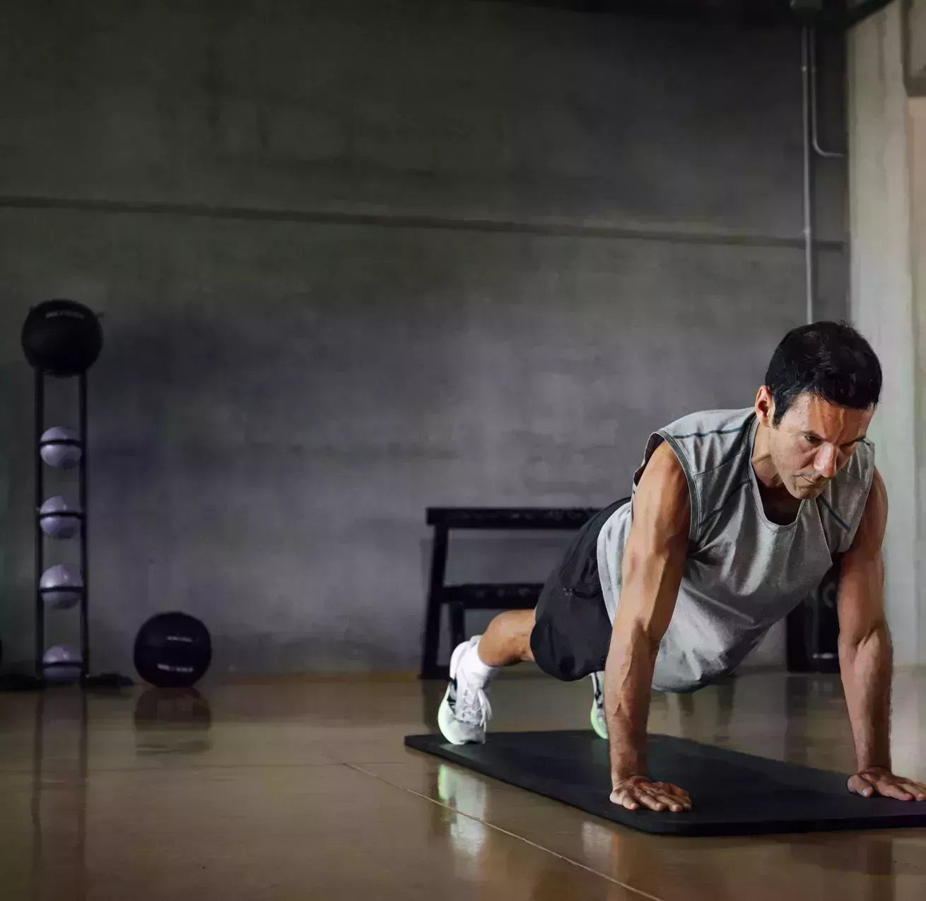
[[[692,797],[687,813],[624,810],[608,800],[607,742],[594,732],[490,732],[485,745],[450,745],[441,735],[408,735],[406,745],[643,832],[755,835],[926,827],[926,802],[863,798],[843,773],[810,770],[649,736],[649,769]]]

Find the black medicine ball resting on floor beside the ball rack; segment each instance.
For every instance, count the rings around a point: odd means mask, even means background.
[[[186,613],[158,613],[135,639],[135,669],[159,688],[188,688],[212,662],[212,639],[198,619]]]

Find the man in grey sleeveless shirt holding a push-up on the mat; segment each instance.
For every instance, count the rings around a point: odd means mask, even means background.
[[[502,613],[455,649],[444,738],[485,741],[486,692],[500,667],[533,660],[560,680],[590,676],[611,800],[690,809],[683,787],[647,772],[651,689],[694,691],[731,672],[838,560],[839,661],[857,756],[848,789],[926,801],[926,785],[891,768],[887,494],[867,438],[881,387],[870,344],[843,323],[817,322],[785,335],[754,406],[694,413],[653,433],[632,499],[582,527],[536,609]]]

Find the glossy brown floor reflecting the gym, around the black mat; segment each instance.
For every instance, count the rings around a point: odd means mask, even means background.
[[[407,751],[442,692],[370,680],[0,695],[0,897],[926,899],[926,830],[648,836]],[[493,727],[582,728],[589,699],[585,684],[500,680]],[[831,677],[657,695],[651,729],[852,765]],[[897,677],[894,741],[896,768],[926,778],[926,672]]]

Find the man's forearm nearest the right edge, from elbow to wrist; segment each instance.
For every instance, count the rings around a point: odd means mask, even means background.
[[[887,624],[858,639],[840,638],[839,663],[858,770],[891,769],[893,649]]]

